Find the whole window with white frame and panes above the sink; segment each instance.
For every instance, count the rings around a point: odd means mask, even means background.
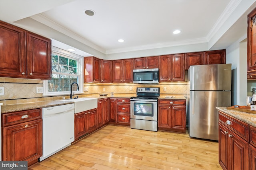
[[[44,81],[44,96],[70,94],[70,86],[73,82],[72,92],[82,93],[83,89],[83,57],[52,47],[52,80]]]

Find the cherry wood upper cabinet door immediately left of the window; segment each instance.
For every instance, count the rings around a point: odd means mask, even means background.
[[[27,31],[28,78],[52,78],[51,40]]]

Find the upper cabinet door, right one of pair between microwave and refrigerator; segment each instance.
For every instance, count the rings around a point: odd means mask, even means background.
[[[172,81],[184,81],[184,54],[172,55]]]

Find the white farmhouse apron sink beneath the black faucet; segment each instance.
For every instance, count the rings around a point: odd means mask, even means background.
[[[66,99],[63,101],[75,102],[75,113],[80,113],[82,111],[95,109],[98,107],[97,98]]]

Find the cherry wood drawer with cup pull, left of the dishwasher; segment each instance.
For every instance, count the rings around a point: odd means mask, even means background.
[[[2,114],[2,125],[3,127],[5,127],[40,118],[42,118],[42,109],[32,109],[26,111],[4,113]]]

